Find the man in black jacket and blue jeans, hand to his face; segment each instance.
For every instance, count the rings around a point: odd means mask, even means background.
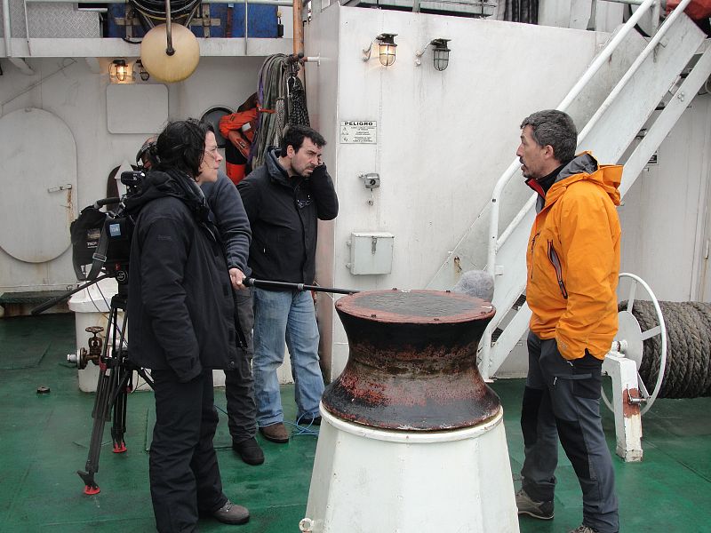
[[[265,163],[239,183],[252,227],[248,265],[260,280],[314,282],[317,219],[331,220],[338,198],[321,153],[318,131],[292,125],[281,148],[270,148]],[[324,392],[318,357],[314,300],[300,290],[252,289],[254,301],[254,389],[260,433],[288,442],[276,370],[284,362],[284,341],[292,358],[297,422],[320,424]]]

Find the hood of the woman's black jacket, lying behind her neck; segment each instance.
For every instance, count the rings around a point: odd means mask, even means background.
[[[203,191],[188,174],[176,171],[149,171],[140,190],[124,202],[128,214],[138,214],[143,207],[156,198],[172,196],[185,203],[197,219],[207,220],[210,210]]]

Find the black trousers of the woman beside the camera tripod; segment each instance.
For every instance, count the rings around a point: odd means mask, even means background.
[[[218,415],[212,370],[180,383],[172,370],[151,372],[156,426],[150,446],[150,494],[161,533],[197,531],[198,513],[214,513],[228,498],[212,447]]]

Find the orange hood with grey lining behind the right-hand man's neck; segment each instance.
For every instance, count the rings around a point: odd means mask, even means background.
[[[619,205],[619,183],[622,178],[622,166],[617,164],[600,165],[589,152],[576,155],[558,174],[552,187],[546,194],[546,206],[555,202],[563,194],[565,187],[576,181],[586,179],[595,183],[610,196],[612,203]]]

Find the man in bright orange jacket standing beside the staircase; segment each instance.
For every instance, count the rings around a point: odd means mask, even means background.
[[[521,123],[526,184],[538,193],[527,248],[529,370],[521,427],[519,514],[553,518],[558,439],[578,476],[583,522],[571,533],[617,533],[618,501],[600,418],[601,369],[617,332],[622,167],[575,156],[578,133],[562,111]]]

